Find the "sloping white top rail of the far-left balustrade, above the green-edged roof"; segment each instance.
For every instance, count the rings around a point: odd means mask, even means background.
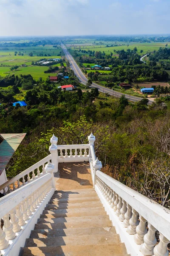
[[[12,183],[14,183],[17,180],[20,180],[20,178],[24,177],[25,175],[28,175],[30,172],[34,171],[37,169],[39,166],[43,165],[44,163],[47,163],[49,160],[51,160],[51,154],[48,155],[47,157],[43,158],[39,162],[35,163],[34,165],[28,167],[25,171],[21,172],[20,174],[16,175],[15,177],[11,178],[10,180],[6,181],[6,183],[3,183],[0,186],[0,190],[5,189]]]

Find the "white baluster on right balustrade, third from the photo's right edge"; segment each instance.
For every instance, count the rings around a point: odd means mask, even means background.
[[[139,214],[139,225],[136,227],[136,234],[134,235],[134,240],[136,244],[143,244],[144,235],[147,233],[146,220]]]

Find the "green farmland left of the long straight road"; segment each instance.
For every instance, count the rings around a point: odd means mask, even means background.
[[[16,43],[16,42],[15,42]],[[21,42],[20,42],[21,43]],[[17,53],[16,53],[17,52]],[[29,56],[32,52],[33,56]],[[48,70],[47,66],[36,66],[32,65],[32,62],[37,62],[41,58],[61,58],[62,50],[60,47],[53,48],[51,45],[36,46],[36,47],[8,47],[4,50],[4,47],[0,47],[0,76],[4,77],[7,75],[28,75],[33,76],[34,79],[42,77],[46,79],[48,76],[54,74],[44,73],[45,70]],[[18,55],[22,54],[22,55]],[[41,55],[41,56],[37,56]],[[50,56],[48,56],[50,55]],[[21,67],[25,64],[26,67]],[[64,63],[65,65],[65,63]],[[10,71],[11,67],[19,66],[17,70]],[[54,66],[60,66],[60,63],[55,64]]]

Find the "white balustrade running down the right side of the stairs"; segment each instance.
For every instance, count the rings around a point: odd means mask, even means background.
[[[168,256],[170,210],[99,170],[96,171],[96,180],[96,192],[125,242],[128,253],[133,256]],[[159,231],[160,241],[156,240],[156,230]]]

